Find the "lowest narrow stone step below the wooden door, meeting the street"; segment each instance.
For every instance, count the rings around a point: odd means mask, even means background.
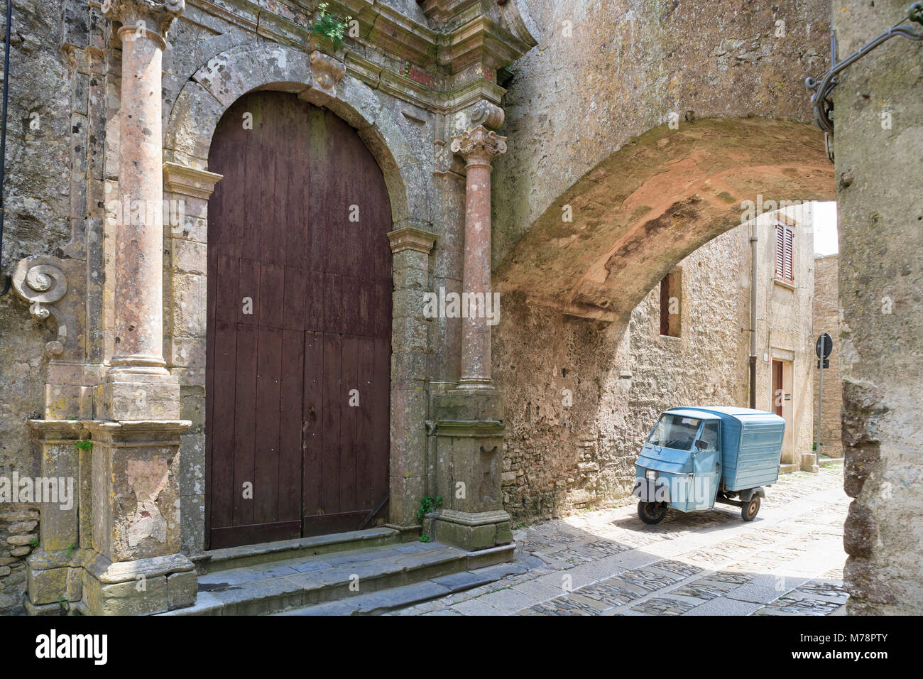
[[[508,563],[463,571],[451,576],[435,577],[414,585],[383,589],[368,594],[351,592],[348,599],[318,603],[275,615],[380,615],[414,606],[428,600],[445,597],[466,589],[482,587],[502,577],[518,576],[528,569],[524,564]]]

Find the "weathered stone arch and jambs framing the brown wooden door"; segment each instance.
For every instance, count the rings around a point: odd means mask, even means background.
[[[429,268],[428,253],[436,241],[430,233],[426,177],[401,127],[375,91],[343,75],[340,62],[281,45],[251,45],[212,56],[186,81],[164,133],[165,199],[182,204],[185,210],[181,219],[174,220],[177,224],[164,229],[165,249],[173,253],[164,284],[164,353],[174,374],[180,376],[184,417],[192,421],[182,437],[181,452],[187,480],[182,494],[183,550],[187,553],[206,547],[206,243],[209,199],[222,180],[210,171],[210,148],[222,116],[234,102],[254,91],[285,92],[322,106],[353,127],[365,143],[380,168],[390,201],[394,296],[415,294],[419,272]],[[411,381],[414,370],[405,355],[426,351],[428,342],[426,335],[419,337],[414,330],[414,324],[396,322],[391,336],[389,487],[391,497],[397,499],[378,517],[399,526],[415,523],[414,500],[405,501],[405,470],[426,464],[425,448],[403,442],[405,429],[424,427],[422,419],[408,422],[404,415],[407,400],[416,397],[402,388]],[[376,497],[374,502],[381,499]]]

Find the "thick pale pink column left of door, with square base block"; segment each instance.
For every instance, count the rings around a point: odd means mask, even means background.
[[[104,0],[122,27],[115,347],[103,391],[111,419],[179,417],[179,385],[163,359],[163,36],[184,0]]]

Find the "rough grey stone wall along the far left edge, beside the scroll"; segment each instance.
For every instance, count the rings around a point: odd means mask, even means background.
[[[80,93],[71,91],[66,56],[61,52],[62,6],[62,2],[13,6],[4,276],[22,257],[63,251],[70,237],[71,127],[79,125],[79,120],[72,120],[71,102]],[[42,347],[52,335],[45,323],[30,316],[29,305],[12,289],[0,297],[0,477],[9,478],[15,470],[34,476],[38,469],[26,420],[42,416]],[[32,507],[0,503],[0,613],[21,607],[23,559],[31,550],[37,518]],[[31,527],[27,530],[27,526]]]

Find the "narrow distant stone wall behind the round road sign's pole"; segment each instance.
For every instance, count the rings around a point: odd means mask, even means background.
[[[828,333],[833,337],[830,368],[823,370],[821,403],[821,455],[843,456],[843,385],[840,382],[840,288],[839,256],[814,259],[814,337]],[[815,370],[815,373],[817,371]],[[814,381],[817,403],[821,383]],[[816,417],[816,415],[815,415]]]

